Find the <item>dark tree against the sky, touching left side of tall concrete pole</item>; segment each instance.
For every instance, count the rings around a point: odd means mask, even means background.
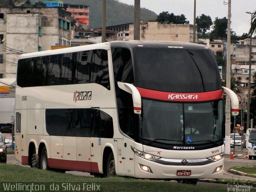
[[[228,19],[224,18],[215,18],[213,22],[212,37],[215,39],[226,38],[227,37],[227,28],[228,28]]]

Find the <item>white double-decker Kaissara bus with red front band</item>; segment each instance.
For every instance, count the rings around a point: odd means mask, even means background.
[[[16,80],[22,164],[193,184],[222,177],[223,91],[233,115],[238,99],[206,46],[135,40],[22,54]]]

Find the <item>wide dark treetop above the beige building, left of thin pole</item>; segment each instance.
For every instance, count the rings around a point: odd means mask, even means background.
[[[174,15],[173,13],[169,13],[168,11],[163,11],[157,16],[156,21],[160,23],[168,21],[169,23],[174,24],[188,24],[189,21],[187,21],[186,19],[187,18],[184,14]]]

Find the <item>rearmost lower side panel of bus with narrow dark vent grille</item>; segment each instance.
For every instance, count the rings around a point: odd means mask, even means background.
[[[14,137],[15,159],[24,165],[28,165],[26,129],[27,110],[16,110]]]

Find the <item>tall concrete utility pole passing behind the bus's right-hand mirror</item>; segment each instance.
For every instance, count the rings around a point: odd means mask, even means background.
[[[227,77],[226,87],[230,89],[230,24],[231,24],[231,0],[228,0],[228,42],[227,42]],[[226,96],[226,120],[225,120],[225,154],[230,154],[230,97]]]

